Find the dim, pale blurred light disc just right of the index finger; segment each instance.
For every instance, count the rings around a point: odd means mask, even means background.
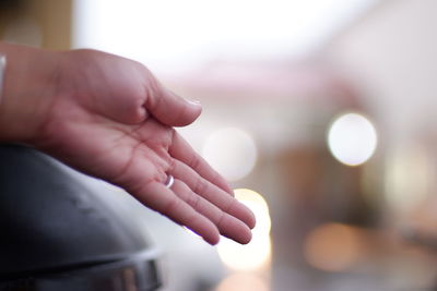
[[[236,128],[226,128],[208,136],[202,156],[224,178],[237,181],[253,169],[257,160],[257,147],[253,138],[247,132]]]

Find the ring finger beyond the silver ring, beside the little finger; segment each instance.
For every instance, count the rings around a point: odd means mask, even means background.
[[[245,223],[193,193],[182,181],[176,179],[172,190],[180,199],[210,219],[222,235],[243,244],[250,242],[251,232]]]

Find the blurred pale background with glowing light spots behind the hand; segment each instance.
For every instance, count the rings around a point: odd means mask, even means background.
[[[0,0],[3,41],[138,60],[257,215],[211,247],[122,199],[165,291],[437,290],[437,1]]]

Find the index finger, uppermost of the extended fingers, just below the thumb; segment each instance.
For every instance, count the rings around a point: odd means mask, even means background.
[[[168,153],[175,159],[188,165],[205,180],[234,196],[234,191],[231,189],[226,180],[220,175],[200,155],[198,155],[176,131],[174,132]]]

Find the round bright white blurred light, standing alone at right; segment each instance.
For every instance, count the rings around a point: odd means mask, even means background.
[[[349,166],[362,165],[375,153],[375,126],[361,114],[343,114],[335,119],[329,129],[328,146],[339,161]]]

